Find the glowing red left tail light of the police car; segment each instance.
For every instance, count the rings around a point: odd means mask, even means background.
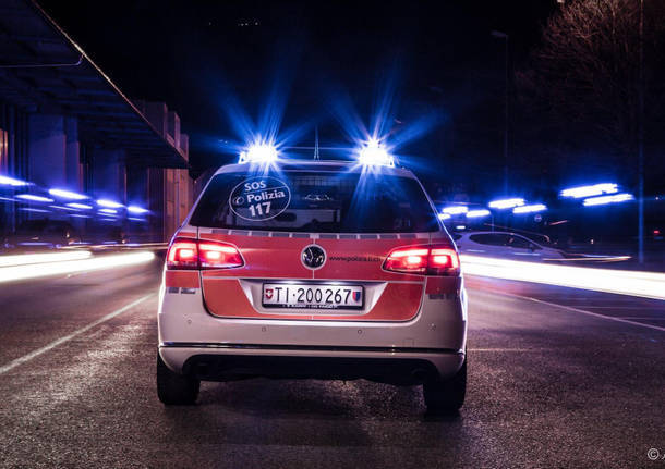
[[[167,269],[233,269],[244,266],[235,246],[204,239],[176,238],[167,254]]]

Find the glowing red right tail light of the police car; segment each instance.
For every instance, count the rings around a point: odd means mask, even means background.
[[[459,257],[447,245],[404,246],[392,249],[384,269],[422,275],[459,275]]]

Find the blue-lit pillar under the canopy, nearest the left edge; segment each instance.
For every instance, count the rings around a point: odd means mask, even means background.
[[[66,187],[66,141],[62,115],[29,115],[27,134],[29,181],[45,187]]]

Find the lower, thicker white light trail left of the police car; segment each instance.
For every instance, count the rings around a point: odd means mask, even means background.
[[[0,268],[0,283],[135,266],[149,262],[153,259],[155,259],[154,252],[141,251],[100,256],[80,260],[66,260],[61,262],[10,266]]]

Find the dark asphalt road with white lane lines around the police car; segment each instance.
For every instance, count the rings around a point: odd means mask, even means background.
[[[165,408],[158,282],[155,263],[0,285],[0,467],[665,468],[646,456],[665,454],[665,303],[469,279],[457,417],[365,381],[204,383]]]

